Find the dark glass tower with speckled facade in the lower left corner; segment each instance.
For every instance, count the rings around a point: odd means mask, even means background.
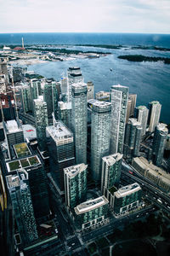
[[[28,174],[25,170],[22,170],[17,174],[6,176],[6,180],[17,228],[20,232],[22,244],[26,246],[38,239]]]

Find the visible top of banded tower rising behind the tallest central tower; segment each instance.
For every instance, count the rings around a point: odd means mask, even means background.
[[[71,86],[72,84],[84,83],[80,67],[69,67],[67,69],[67,100],[71,102]]]

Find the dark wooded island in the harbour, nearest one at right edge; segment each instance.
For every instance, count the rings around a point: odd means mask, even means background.
[[[170,64],[170,58],[164,58],[164,57],[150,57],[150,56],[144,56],[144,55],[119,55],[117,57],[118,59],[127,60],[127,61],[162,61],[165,64]]]

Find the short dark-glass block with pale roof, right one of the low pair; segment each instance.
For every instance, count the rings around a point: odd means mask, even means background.
[[[141,202],[142,189],[138,183],[133,183],[118,189],[114,193],[113,211],[116,215],[138,208]]]

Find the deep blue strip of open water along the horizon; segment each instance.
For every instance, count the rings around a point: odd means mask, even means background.
[[[138,33],[2,33],[0,44],[122,44],[170,48],[168,34]]]

